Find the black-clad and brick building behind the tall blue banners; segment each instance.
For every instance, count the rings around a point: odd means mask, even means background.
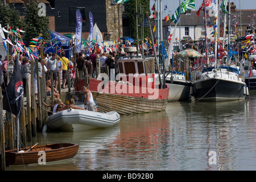
[[[30,0],[1,0],[14,5],[21,16],[26,15],[25,6]],[[93,14],[93,24],[97,23],[104,40],[116,40],[123,36],[122,4],[114,0],[35,0],[46,5],[46,15],[49,17],[49,28],[60,34],[75,34],[76,10],[80,10],[82,19],[82,39],[89,35],[89,11]]]

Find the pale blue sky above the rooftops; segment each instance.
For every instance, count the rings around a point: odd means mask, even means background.
[[[180,2],[183,2],[184,0],[180,0]],[[201,6],[203,0],[195,0],[196,4],[196,10],[199,9]],[[227,3],[229,1],[227,0]],[[234,4],[237,6],[236,10],[240,9],[241,4],[241,10],[249,10],[249,9],[256,9],[256,0],[231,0],[231,2],[234,2]],[[150,0],[150,9],[154,5],[155,0]],[[168,9],[164,11],[164,5],[167,5]],[[179,6],[179,0],[162,0],[162,10],[163,10],[163,17],[170,14],[174,14],[174,11]],[[157,6],[156,6],[157,8]],[[256,12],[256,10],[255,10]]]

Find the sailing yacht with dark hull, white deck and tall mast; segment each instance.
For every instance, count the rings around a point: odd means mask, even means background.
[[[205,0],[204,0],[205,2]],[[218,1],[216,5],[216,17],[218,17]],[[230,1],[229,1],[230,12]],[[229,15],[230,16],[230,15]],[[216,18],[217,24],[218,18]],[[219,28],[219,26],[217,26]],[[215,31],[217,31],[215,28]],[[230,30],[230,24],[229,24]],[[192,82],[192,95],[196,100],[204,101],[226,101],[241,100],[246,95],[246,84],[237,68],[221,66],[217,59],[217,37],[215,36],[214,67],[205,68],[199,80]]]

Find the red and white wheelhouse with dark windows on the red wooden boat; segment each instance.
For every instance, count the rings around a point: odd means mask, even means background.
[[[141,87],[151,86],[155,88],[155,63],[154,58],[122,59],[117,60],[118,73],[121,81],[129,84],[139,84]],[[126,80],[124,76],[126,76]],[[154,86],[153,86],[154,85]]]

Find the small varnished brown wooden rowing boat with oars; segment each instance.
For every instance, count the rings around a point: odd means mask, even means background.
[[[30,150],[27,152],[27,150]],[[16,149],[5,151],[6,165],[20,165],[39,163],[43,155],[46,157],[45,162],[53,162],[57,160],[73,158],[79,150],[79,144],[73,143],[55,143],[34,148],[21,148],[17,152]],[[41,151],[41,152],[40,152]],[[43,151],[43,152],[42,152]]]

